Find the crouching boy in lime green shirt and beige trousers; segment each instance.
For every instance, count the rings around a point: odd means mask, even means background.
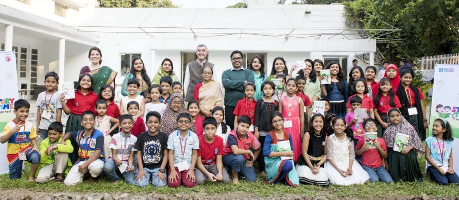
[[[64,126],[61,122],[51,122],[47,132],[48,137],[40,143],[41,169],[35,181],[41,184],[53,179],[56,179],[56,182],[63,182],[67,166],[72,166],[69,162],[69,153],[73,152],[73,146],[70,140],[60,144],[64,135]]]

